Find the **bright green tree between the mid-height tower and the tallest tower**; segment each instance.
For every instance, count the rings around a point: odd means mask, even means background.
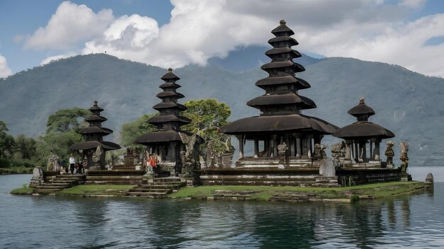
[[[211,143],[213,149],[222,154],[233,152],[231,137],[218,132],[223,125],[228,124],[231,115],[230,107],[216,99],[189,100],[184,105],[188,108],[183,112],[192,122],[183,128],[198,134],[205,139],[206,145]]]

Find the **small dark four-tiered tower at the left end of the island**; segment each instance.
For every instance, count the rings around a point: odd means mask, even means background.
[[[100,112],[103,112],[104,109],[97,105],[97,101],[94,101],[94,105],[89,108],[89,110],[91,111],[91,115],[85,118],[85,121],[89,123],[89,127],[82,128],[78,132],[79,134],[82,134],[86,141],[72,144],[70,149],[74,151],[81,151],[82,156],[86,156],[88,158],[88,168],[91,169],[95,164],[93,161],[93,156],[96,154],[96,150],[100,146],[103,153],[101,153],[99,158],[97,158],[97,162],[99,163],[100,169],[104,170],[106,151],[121,149],[121,146],[114,144],[111,141],[104,141],[104,136],[113,133],[113,131],[109,128],[101,126],[101,123],[105,122],[107,119],[106,117],[100,115]]]

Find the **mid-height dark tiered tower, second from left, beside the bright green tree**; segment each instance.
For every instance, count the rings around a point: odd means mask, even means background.
[[[160,167],[163,170],[168,170],[171,174],[177,174],[182,169],[180,152],[186,151],[179,132],[188,136],[192,135],[190,132],[182,131],[180,127],[189,124],[191,120],[180,115],[182,111],[187,110],[187,107],[177,103],[179,98],[184,98],[182,93],[177,92],[177,88],[181,87],[176,83],[179,77],[173,74],[172,69],[168,69],[167,74],[160,79],[165,83],[159,86],[163,91],[158,93],[156,97],[162,101],[152,107],[159,111],[160,115],[148,120],[151,125],[157,127],[157,131],[144,134],[136,139],[135,143],[147,146],[150,154],[159,155],[162,158]]]

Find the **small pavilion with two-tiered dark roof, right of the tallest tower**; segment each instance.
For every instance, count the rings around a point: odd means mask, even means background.
[[[345,140],[344,166],[380,167],[380,146],[382,139],[394,137],[393,132],[384,127],[368,122],[374,115],[374,110],[365,104],[361,98],[359,104],[348,110],[348,114],[357,118],[357,121],[338,129],[334,137]]]

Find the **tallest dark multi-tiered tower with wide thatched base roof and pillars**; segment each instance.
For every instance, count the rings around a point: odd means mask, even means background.
[[[299,90],[310,88],[309,83],[294,76],[305,71],[304,66],[293,62],[294,58],[301,57],[292,50],[292,46],[299,43],[291,37],[294,32],[283,20],[272,34],[276,37],[268,43],[273,48],[265,52],[272,62],[261,67],[269,76],[256,82],[265,94],[247,103],[259,109],[260,116],[236,120],[222,127],[221,132],[235,135],[239,140],[236,167],[316,166],[313,161],[320,158],[321,153],[315,151],[315,144],[321,144],[323,135],[332,134],[338,127],[301,114],[301,110],[316,108],[316,104],[299,95]],[[254,143],[253,156],[244,155],[246,141]]]

